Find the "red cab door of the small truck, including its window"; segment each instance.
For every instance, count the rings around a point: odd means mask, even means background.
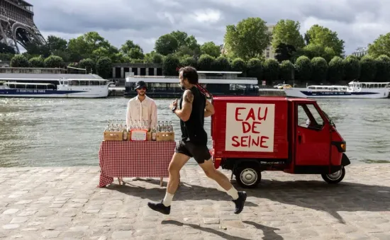
[[[321,171],[330,164],[329,125],[313,103],[296,103],[295,108],[296,170]]]

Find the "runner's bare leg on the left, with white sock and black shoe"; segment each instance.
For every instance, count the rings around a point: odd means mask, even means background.
[[[161,212],[165,215],[168,215],[171,210],[171,202],[176,193],[176,190],[179,186],[180,179],[180,169],[186,164],[186,162],[190,159],[190,156],[186,154],[182,154],[179,152],[175,152],[172,161],[169,164],[169,179],[167,184],[167,191],[165,193],[165,198],[161,202],[147,202],[147,206],[149,206],[152,210],[157,212]]]

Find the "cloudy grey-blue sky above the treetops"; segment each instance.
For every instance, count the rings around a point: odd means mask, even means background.
[[[345,40],[347,55],[390,32],[389,0],[28,0],[43,33],[65,39],[97,31],[112,45],[133,40],[150,52],[160,35],[182,30],[199,43],[223,44],[225,26],[247,17],[269,24],[301,23],[301,33],[320,24]],[[387,16],[387,17],[386,17]]]

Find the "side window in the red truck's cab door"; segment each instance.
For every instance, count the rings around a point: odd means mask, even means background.
[[[325,125],[325,121],[318,113],[314,104],[300,103],[298,105],[298,122],[300,127],[306,127],[308,129],[321,130]]]

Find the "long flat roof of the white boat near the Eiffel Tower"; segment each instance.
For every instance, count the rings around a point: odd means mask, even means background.
[[[96,74],[1,74],[0,80],[105,80]]]

